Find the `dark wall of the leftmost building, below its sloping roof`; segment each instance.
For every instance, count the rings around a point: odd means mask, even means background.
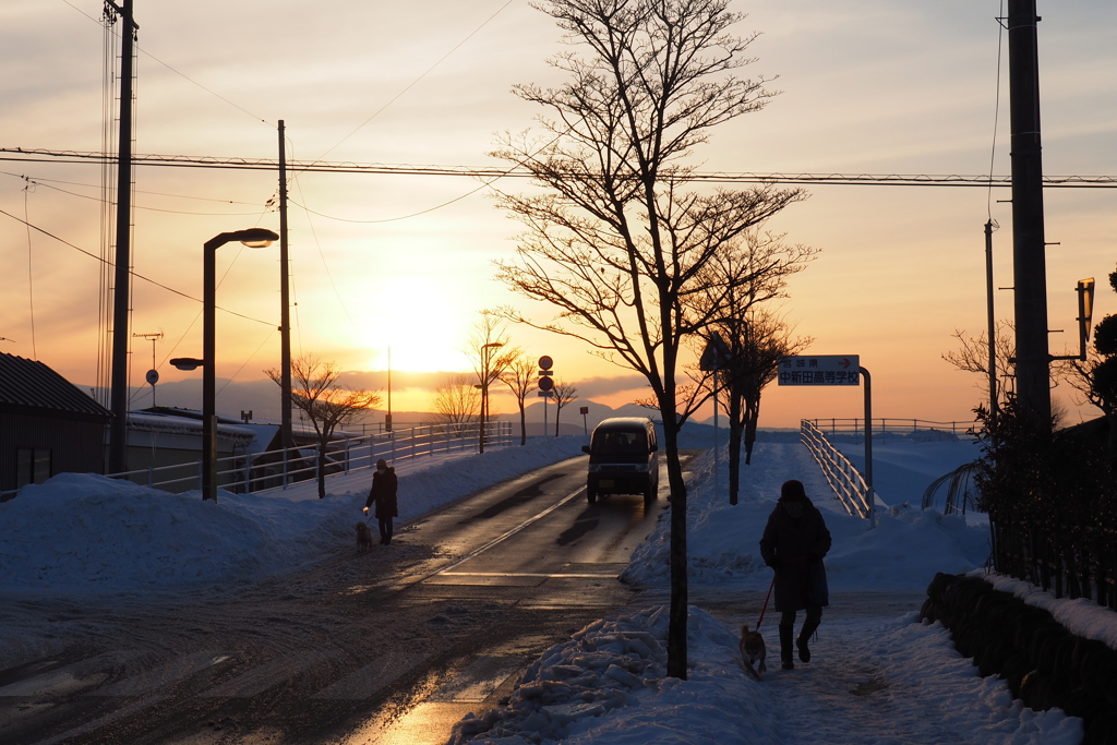
[[[51,476],[104,474],[104,437],[101,422],[0,412],[0,491],[17,486],[20,448],[48,448]]]

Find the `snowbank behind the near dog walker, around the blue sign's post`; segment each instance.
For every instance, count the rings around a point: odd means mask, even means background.
[[[910,449],[935,449],[938,445]],[[898,505],[879,509],[877,527],[868,529],[865,519],[846,513],[801,445],[757,443],[753,465],[741,468],[737,505],[728,503],[724,452],[718,467],[719,491],[715,490],[712,453],[703,453],[689,467],[695,477],[687,494],[688,575],[695,583],[734,582],[745,589],[767,589],[772,571],[761,560],[760,538],[780,486],[791,478],[803,481],[833,536],[825,558],[831,590],[923,591],[936,572],[968,572],[983,566],[990,554],[989,528],[967,526],[962,515],[944,516]],[[639,586],[666,586],[669,547],[670,524],[665,512],[633,553],[622,579]]]

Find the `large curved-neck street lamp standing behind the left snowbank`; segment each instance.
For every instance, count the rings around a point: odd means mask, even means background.
[[[249,228],[222,232],[206,241],[202,256],[204,294],[202,295],[202,500],[217,502],[217,385],[213,376],[217,336],[217,249],[239,240],[249,248],[265,248],[279,236],[266,228]],[[198,363],[193,359],[180,359],[187,365]],[[175,360],[171,363],[174,364]],[[179,366],[179,365],[175,365]],[[197,366],[197,365],[195,365]],[[190,369],[193,367],[180,367]]]

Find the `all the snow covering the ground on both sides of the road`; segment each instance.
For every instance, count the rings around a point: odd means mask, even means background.
[[[681,447],[708,445],[697,429]],[[923,592],[935,572],[983,572],[987,527],[923,512],[927,483],[972,458],[968,443],[898,442],[876,448],[880,493],[891,505],[867,529],[829,496],[818,466],[791,437],[757,445],[742,468],[738,505],[726,497],[724,449],[715,493],[713,453],[689,466],[690,582],[720,593],[764,592],[772,573],[757,541],[780,485],[798,478],[833,534],[827,557],[831,592]],[[400,461],[400,522],[488,484],[576,455],[584,438],[546,438],[526,448]],[[895,448],[892,446],[895,445]],[[724,438],[722,441],[724,448]],[[856,448],[843,448],[856,459]],[[154,595],[184,588],[251,583],[306,566],[346,545],[360,516],[369,471],[331,477],[331,496],[314,486],[286,493],[170,495],[88,476],[58,476],[0,504],[0,593]],[[908,503],[905,505],[905,503]],[[666,513],[665,513],[666,514]],[[276,539],[281,538],[281,539]],[[666,586],[667,522],[633,554],[630,582]],[[1004,590],[1054,613],[1076,633],[1117,647],[1114,614],[1087,601],[1057,601],[1023,583]],[[697,596],[699,593],[695,593]],[[464,720],[465,739],[523,745],[564,743],[1078,743],[1081,722],[1059,710],[1033,713],[995,678],[977,677],[938,624],[828,611],[815,658],[779,669],[775,622],[765,621],[770,671],[762,682],[738,662],[737,630],[690,610],[688,680],[665,672],[666,610],[605,619],[546,651],[506,707]],[[745,619],[755,623],[755,619]],[[3,659],[0,643],[0,659]],[[485,730],[485,732],[481,732]]]

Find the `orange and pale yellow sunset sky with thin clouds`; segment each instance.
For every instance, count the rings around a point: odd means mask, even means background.
[[[1043,168],[1052,175],[1117,175],[1117,4],[1040,0]],[[997,93],[1000,0],[752,0],[737,32],[763,35],[745,76],[779,75],[764,111],[712,133],[695,152],[704,171],[782,173],[989,173]],[[0,146],[97,151],[103,30],[95,0],[0,4]],[[550,17],[527,0],[422,3],[135,0],[140,25],[139,153],[274,159],[285,120],[288,157],[357,163],[494,166],[496,134],[542,113],[510,93],[555,84],[546,57],[562,47]],[[1009,166],[1008,46],[1002,55],[993,171]],[[28,176],[34,183],[28,183]],[[0,161],[0,210],[99,252],[99,166]],[[523,180],[494,184],[528,189]],[[141,165],[136,171],[137,274],[200,297],[202,243],[219,232],[278,228],[266,207],[277,174]],[[995,284],[1011,287],[1008,189],[813,185],[768,226],[821,248],[793,278],[783,306],[817,354],[859,354],[873,378],[876,417],[970,420],[975,376],[942,354],[952,333],[985,326],[983,225],[992,214]],[[510,258],[518,223],[491,191],[464,176],[302,173],[290,182],[295,353],[350,371],[392,366],[467,370],[462,354],[483,308],[517,305],[493,279]],[[1117,266],[1117,189],[1048,189],[1049,316],[1053,353],[1077,345],[1075,284],[1096,277],[1095,318],[1117,312],[1106,278]],[[30,246],[29,246],[30,242]],[[251,381],[279,356],[275,247],[218,252],[218,378]],[[96,382],[97,261],[0,214],[0,351],[37,357],[70,381]],[[227,273],[227,274],[226,274]],[[1011,318],[1012,295],[996,296]],[[32,333],[34,306],[34,333]],[[137,280],[132,331],[162,331],[164,381],[198,376],[164,360],[201,352],[200,304]],[[508,331],[561,378],[593,382],[594,400],[641,395],[630,371],[577,342]],[[142,384],[151,344],[136,340],[131,380]],[[1077,351],[1077,348],[1076,348]],[[398,398],[397,398],[398,397]],[[422,409],[428,392],[393,392]],[[1066,386],[1069,421],[1094,417]],[[144,405],[143,401],[137,401]],[[235,409],[237,403],[219,408]],[[505,403],[507,409],[510,404]],[[765,393],[762,427],[856,417],[848,389]],[[233,412],[235,413],[235,412]]]

